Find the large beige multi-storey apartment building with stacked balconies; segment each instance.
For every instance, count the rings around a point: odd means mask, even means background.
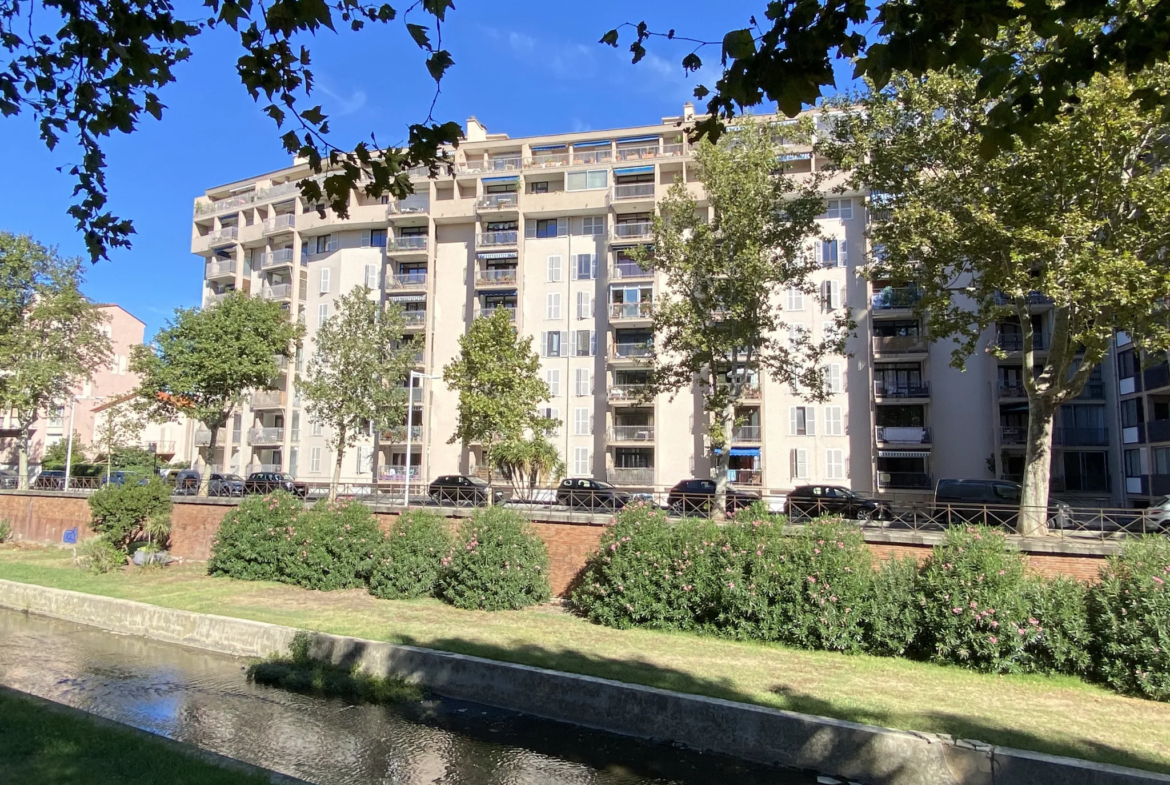
[[[304,165],[209,188],[195,200],[192,226],[204,303],[233,289],[277,299],[307,325],[310,351],[333,298],[365,283],[404,308],[407,331],[424,342],[418,369],[427,376],[454,358],[472,319],[505,309],[541,353],[548,411],[562,421],[553,441],[571,475],[644,488],[706,476],[697,391],[640,402],[653,343],[649,304],[662,282],[631,256],[651,239],[651,216],[673,183],[704,206],[684,133],[694,119],[688,104],[653,125],[510,138],[472,118],[452,151],[454,175],[412,173],[415,194],[402,200],[355,193],[345,220],[300,198]],[[807,147],[780,158],[796,174],[826,165]],[[863,193],[826,191],[825,240],[815,248],[820,294],[779,292],[785,319],[819,337],[848,308],[859,328],[848,356],[830,364],[826,402],[808,402],[766,376],[753,379],[732,439],[737,486],[783,494],[825,482],[913,498],[937,477],[1020,471],[1018,325],[985,337],[1016,352],[1007,361],[980,353],[965,372],[949,367],[951,346],[930,343],[913,314],[913,282],[860,275],[866,226],[881,218]],[[1051,308],[1038,299],[1034,311],[1045,322]],[[303,363],[303,353],[290,358],[278,390],[253,395],[221,435],[223,453],[207,460],[308,481],[331,476],[326,434],[308,421],[295,390]],[[1058,488],[1100,500],[1116,491],[1109,478],[1119,470],[1109,457],[1117,439],[1108,422],[1112,369],[1104,364],[1087,391],[1097,398],[1062,412],[1067,435],[1053,466]],[[431,379],[411,401],[412,431],[404,424],[367,434],[345,457],[345,480],[400,481],[407,441],[420,478],[476,470],[477,446],[449,443],[457,397]]]

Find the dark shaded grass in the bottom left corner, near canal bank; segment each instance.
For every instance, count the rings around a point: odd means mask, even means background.
[[[21,785],[264,785],[163,739],[98,724],[0,688],[0,783]]]

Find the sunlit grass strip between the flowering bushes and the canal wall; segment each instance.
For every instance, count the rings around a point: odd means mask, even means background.
[[[546,606],[487,613],[208,578],[200,564],[91,576],[66,551],[0,546],[0,578],[164,607],[412,643],[778,709],[1170,773],[1170,704],[1067,676],[619,631]]]

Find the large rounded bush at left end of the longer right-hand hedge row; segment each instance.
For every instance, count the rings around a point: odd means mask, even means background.
[[[694,629],[715,620],[723,560],[718,528],[706,519],[670,522],[633,504],[614,518],[570,600],[611,627]]]

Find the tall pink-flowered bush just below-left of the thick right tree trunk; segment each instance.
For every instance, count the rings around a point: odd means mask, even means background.
[[[923,653],[992,673],[1028,668],[1025,649],[1040,634],[1024,597],[1024,557],[1002,532],[952,528],[918,573]]]

